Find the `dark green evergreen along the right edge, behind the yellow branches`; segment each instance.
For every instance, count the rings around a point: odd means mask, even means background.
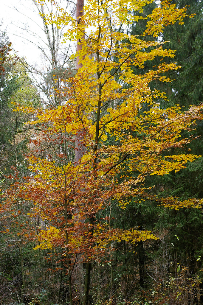
[[[177,71],[167,72],[167,76],[174,80],[171,83],[153,82],[150,84],[150,87],[166,92],[169,101],[160,100],[163,107],[180,104],[184,109],[187,109],[190,104],[198,104],[203,100],[203,2],[199,0],[174,0],[171,2],[179,8],[187,5],[187,13],[189,15],[196,13],[196,15],[193,18],[187,17],[184,20],[184,25],[176,23],[166,27],[162,37],[158,38],[159,40],[169,41],[166,47],[176,50],[176,56],[173,60],[181,68]],[[156,3],[154,2],[146,8],[152,10],[155,5]],[[141,14],[144,17],[148,13],[149,11],[143,11]],[[131,34],[140,34],[143,32],[146,23],[146,20],[142,20],[142,22],[139,20],[138,23],[134,23],[129,32]],[[154,62],[146,62],[143,69],[134,67],[135,74],[144,74],[148,70],[153,70],[156,62],[156,59],[154,59]],[[202,131],[202,123],[198,122],[196,130],[193,133],[193,136],[198,138],[187,145],[187,149],[189,148],[192,153],[197,155],[202,154]],[[183,133],[182,136],[185,138],[188,135]],[[174,149],[174,153],[176,152],[177,149]],[[177,196],[181,199],[188,199],[190,197],[203,198],[202,164],[203,158],[199,158],[194,163],[188,163],[187,167],[178,173],[172,172],[164,178],[153,178],[151,176],[145,181],[146,186],[155,185],[152,192],[159,194],[160,197]],[[195,276],[198,267],[201,267],[201,259],[197,262],[198,256],[201,256],[201,243],[203,240],[201,233],[203,215],[201,210],[166,210],[163,207],[156,207],[156,203],[147,203],[145,201],[143,204],[139,203],[139,199],[134,198],[130,203],[129,209],[122,211],[122,213],[121,219],[124,226],[130,224],[131,226],[134,225],[143,229],[156,228],[156,231],[163,237],[161,242],[154,245],[154,248],[149,248],[148,245],[143,244],[137,245],[137,262],[134,261],[132,263],[133,254],[131,258],[129,257],[131,263],[137,264],[139,267],[139,282],[141,287],[146,289],[144,283],[149,282],[147,277],[151,268],[149,262],[150,260],[151,263],[153,260],[158,262],[158,259],[160,259],[160,249],[163,251],[166,240],[168,246],[174,245],[169,249],[169,264],[166,266],[166,270],[168,270],[167,277],[177,275],[177,263],[188,266],[189,276]],[[164,257],[163,252],[161,256]],[[165,264],[164,261],[163,264]],[[163,280],[166,281],[167,278],[163,278]]]

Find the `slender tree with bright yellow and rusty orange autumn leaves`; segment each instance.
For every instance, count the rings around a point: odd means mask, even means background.
[[[149,87],[153,80],[169,82],[165,73],[176,70],[175,63],[163,62],[144,74],[133,73],[132,66],[143,68],[147,60],[174,57],[175,52],[163,49],[162,42],[145,38],[158,37],[166,25],[183,23],[186,17],[186,9],[162,1],[147,16],[142,35],[127,34],[126,27],[143,19],[132,11],[142,11],[149,2],[153,1],[89,1],[80,22],[62,11],[54,22],[57,26],[71,22],[66,36],[80,39],[82,46],[76,55],[81,63],[77,74],[63,79],[56,90],[66,102],[55,109],[16,107],[16,111],[33,114],[29,124],[40,131],[31,139],[36,150],[27,157],[32,176],[18,185],[17,194],[14,186],[7,193],[10,198],[32,201],[31,217],[48,222],[40,229],[36,249],[60,245],[69,280],[76,257],[81,255],[86,263],[84,305],[90,300],[92,261],[107,256],[111,242],[137,245],[156,239],[148,230],[112,228],[111,215],[103,217],[107,207],[115,203],[125,209],[132,197],[175,209],[202,203],[195,198],[158,198],[144,184],[148,176],[177,172],[199,157],[179,154],[179,149],[191,140],[181,137],[183,130],[190,134],[194,121],[202,119],[202,105],[186,112],[179,106],[162,109],[157,100],[166,99],[165,94]],[[123,32],[118,31],[121,25]],[[115,100],[119,101],[116,106]],[[77,164],[75,135],[85,147]],[[173,154],[168,153],[171,149]],[[9,201],[5,204],[9,206]]]

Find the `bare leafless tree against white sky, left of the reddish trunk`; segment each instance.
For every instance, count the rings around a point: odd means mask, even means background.
[[[31,67],[31,70],[32,74],[36,75],[36,83],[42,90],[43,94],[45,94],[47,99],[47,101],[45,100],[45,103],[48,102],[50,106],[57,107],[61,97],[59,95],[57,96],[53,89],[56,90],[59,87],[61,80],[71,73],[71,47],[70,43],[69,46],[67,43],[62,47],[63,34],[68,25],[64,24],[62,27],[57,27],[55,25],[55,20],[58,19],[61,10],[72,15],[75,6],[72,4],[73,2],[71,3],[71,1],[63,0],[59,1],[57,5],[55,5],[55,1],[53,0],[48,2],[32,0],[32,2],[34,3],[43,22],[43,31],[46,37],[46,42],[45,46],[41,43],[38,45],[38,48],[41,50],[45,58],[45,70],[47,71],[43,73],[42,69],[33,66]],[[33,35],[34,33],[30,34]],[[41,78],[40,82],[38,81],[38,77]]]

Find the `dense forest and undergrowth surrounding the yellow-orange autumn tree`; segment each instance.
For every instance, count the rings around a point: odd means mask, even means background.
[[[31,1],[31,0],[30,0]],[[171,24],[157,39],[167,41],[166,47],[176,50],[174,63],[178,70],[166,72],[172,82],[153,81],[151,88],[167,94],[168,100],[159,99],[161,107],[179,104],[188,110],[190,105],[203,102],[203,2],[199,0],[172,0],[177,7],[188,6],[184,24]],[[140,13],[146,16],[156,7],[153,2]],[[43,6],[41,7],[43,13]],[[74,13],[74,9],[73,12]],[[43,24],[42,16],[42,24]],[[139,20],[128,28],[128,34],[140,35],[146,20]],[[44,24],[45,25],[45,24]],[[3,25],[1,25],[1,28]],[[46,30],[46,25],[45,25]],[[47,32],[48,33],[48,32]],[[68,51],[60,50],[60,41],[54,41],[52,32],[47,41],[46,67],[42,71],[29,66],[25,59],[17,57],[6,32],[0,33],[0,303],[2,305],[69,304],[69,278],[67,263],[60,246],[33,249],[39,245],[36,235],[41,226],[46,230],[48,220],[30,217],[32,203],[28,200],[12,203],[12,209],[4,208],[4,193],[12,183],[31,175],[25,157],[33,149],[30,138],[35,130],[26,125],[29,114],[15,112],[16,104],[24,107],[58,107],[59,96],[54,90],[60,87],[65,74],[75,74],[75,63],[68,61]],[[62,33],[60,33],[62,40]],[[49,36],[49,35],[48,35]],[[48,37],[47,36],[47,37]],[[59,39],[59,37],[58,37]],[[149,37],[150,39],[150,37]],[[49,54],[49,55],[48,55]],[[146,61],[135,74],[144,74],[157,64],[158,59]],[[166,59],[171,62],[171,59]],[[54,74],[54,76],[53,76]],[[55,81],[57,79],[57,81]],[[119,103],[119,101],[118,101]],[[31,116],[31,115],[30,115]],[[182,132],[187,137],[188,131]],[[195,139],[180,148],[180,153],[190,150],[201,155],[203,150],[203,123],[197,122],[192,131]],[[111,138],[109,141],[114,141]],[[110,143],[112,144],[112,143]],[[55,148],[56,150],[58,147]],[[172,148],[172,154],[175,153]],[[60,149],[59,149],[60,153]],[[70,149],[69,159],[74,160]],[[145,186],[151,194],[162,197],[179,197],[181,200],[203,198],[203,157],[188,162],[187,167],[168,175],[148,176]],[[110,207],[101,211],[101,217],[109,214]],[[89,303],[92,304],[203,304],[203,214],[202,209],[169,209],[156,201],[132,197],[125,209],[116,203],[111,205],[109,225],[128,230],[150,230],[158,239],[147,239],[135,244],[113,241],[111,249],[91,267]],[[34,232],[33,235],[30,233]],[[80,267],[78,267],[80,266]],[[74,304],[82,302],[85,263],[74,264]],[[79,275],[78,275],[79,274]]]

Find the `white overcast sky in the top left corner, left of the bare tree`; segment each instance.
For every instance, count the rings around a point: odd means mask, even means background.
[[[32,42],[37,44],[40,38],[45,40],[45,37],[40,28],[42,20],[36,12],[34,4],[31,0],[0,0],[0,4],[1,31],[6,29],[12,47],[18,56],[26,57],[29,63],[36,63],[40,52]],[[31,38],[31,35],[26,34],[26,30],[39,37],[35,38],[32,35]]]

